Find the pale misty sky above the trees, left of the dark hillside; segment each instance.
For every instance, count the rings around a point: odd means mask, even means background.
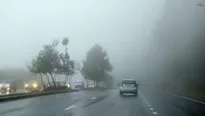
[[[120,70],[126,60],[127,66],[140,61],[163,4],[163,0],[1,0],[0,68],[25,68],[43,44],[68,37],[72,59],[83,60],[98,43]]]

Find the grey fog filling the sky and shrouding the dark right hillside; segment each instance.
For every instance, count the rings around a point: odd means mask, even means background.
[[[69,54],[79,62],[94,44],[101,44],[117,78],[137,78],[150,83],[193,80],[203,76],[200,64],[204,54],[205,7],[197,5],[201,3],[199,0],[1,1],[0,68],[26,69],[43,44],[68,37]]]

